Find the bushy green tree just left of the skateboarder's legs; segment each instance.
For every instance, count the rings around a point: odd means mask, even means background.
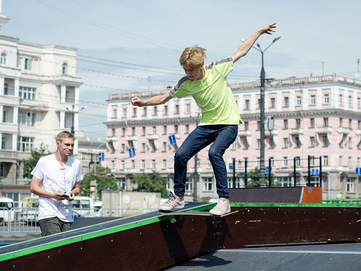
[[[133,191],[160,192],[162,198],[168,198],[166,189],[167,180],[160,176],[157,171],[153,170],[151,175],[145,173],[133,175],[133,179],[130,182],[137,184],[137,187],[134,188]]]

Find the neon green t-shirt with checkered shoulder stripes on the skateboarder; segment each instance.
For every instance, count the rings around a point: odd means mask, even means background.
[[[243,123],[227,82],[227,74],[233,70],[232,57],[205,65],[204,70],[204,77],[194,82],[187,76],[181,78],[169,95],[179,99],[189,95],[193,97],[202,111],[202,120],[198,125]]]

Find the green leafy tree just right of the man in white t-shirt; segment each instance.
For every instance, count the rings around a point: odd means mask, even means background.
[[[108,167],[97,165],[96,167],[97,197],[101,200],[101,190],[119,190],[117,179],[112,175]],[[88,172],[80,182],[80,195],[90,197],[90,181],[94,180],[94,171]]]

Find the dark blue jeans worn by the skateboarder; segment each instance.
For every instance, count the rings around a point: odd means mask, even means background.
[[[218,197],[229,198],[227,168],[223,154],[235,141],[238,125],[197,126],[174,155],[174,194],[183,196],[186,191],[187,163],[200,150],[213,143],[208,157],[216,177]]]

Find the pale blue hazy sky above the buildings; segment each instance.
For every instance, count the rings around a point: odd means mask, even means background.
[[[1,0],[0,0],[1,1]],[[258,28],[276,22],[256,43],[266,78],[355,77],[361,58],[359,0],[2,0],[10,21],[1,35],[22,42],[77,48],[82,77],[78,113],[85,136],[106,137],[109,94],[161,90],[184,75],[179,56],[198,44],[207,60],[232,55]],[[260,80],[261,53],[252,48],[229,83]]]

